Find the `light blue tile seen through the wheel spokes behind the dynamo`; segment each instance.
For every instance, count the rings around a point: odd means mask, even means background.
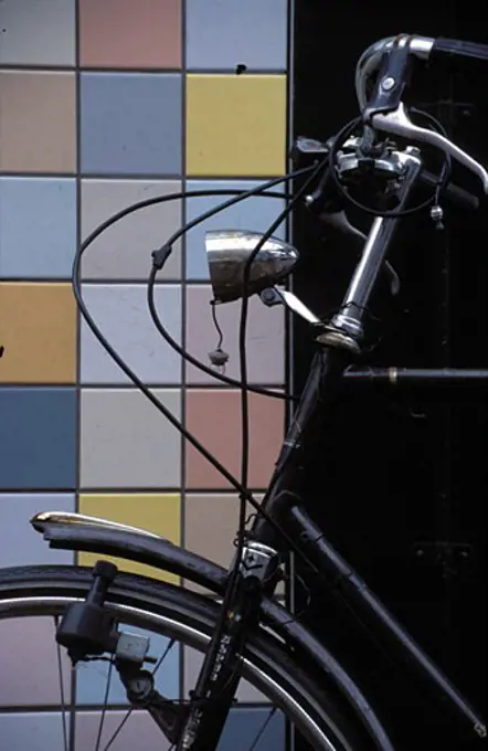
[[[149,637],[150,647],[149,655],[160,659],[166,653],[163,663],[158,668],[156,674],[155,686],[157,690],[167,699],[178,699],[180,696],[180,645],[173,645],[167,648],[170,644],[166,636],[153,634],[136,628],[135,626],[127,626],[121,624],[119,631],[138,634],[140,636]],[[145,669],[153,670],[155,666],[147,663]],[[109,673],[109,664],[106,662],[89,662],[79,663],[76,667],[76,701],[81,705],[103,705],[105,700],[105,692],[107,688],[107,679]],[[124,688],[117,670],[112,670],[110,687],[108,692],[109,705],[125,705],[127,701],[127,694]]]

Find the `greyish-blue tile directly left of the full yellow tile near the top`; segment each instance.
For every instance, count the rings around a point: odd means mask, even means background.
[[[181,75],[83,73],[82,172],[180,174]]]

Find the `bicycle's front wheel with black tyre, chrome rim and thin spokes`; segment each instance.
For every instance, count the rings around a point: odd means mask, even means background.
[[[84,600],[92,571],[26,567],[0,571],[0,739],[9,751],[170,751],[149,712],[130,706],[110,655],[71,666],[55,642],[67,605]],[[218,603],[163,582],[118,573],[106,606],[120,631],[150,638],[157,690],[188,702],[215,628]],[[265,630],[251,637],[236,704],[219,751],[367,748],[331,698]],[[290,730],[293,728],[293,731]],[[2,747],[0,741],[0,748]],[[306,743],[295,748],[305,749]]]

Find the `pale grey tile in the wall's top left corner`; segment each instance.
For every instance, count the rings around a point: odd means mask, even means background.
[[[2,0],[0,63],[74,65],[75,0]]]

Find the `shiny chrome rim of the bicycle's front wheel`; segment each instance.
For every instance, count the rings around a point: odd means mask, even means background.
[[[21,615],[52,615],[53,610],[61,614],[66,606],[73,602],[79,602],[77,597],[70,596],[39,596],[39,597],[15,597],[10,600],[0,600],[0,614],[2,617],[19,617]],[[174,618],[166,615],[159,615],[149,611],[142,611],[139,607],[123,605],[120,603],[107,602],[107,610],[117,613],[124,617],[127,623],[137,626],[140,621],[145,621],[146,627],[152,625],[156,628],[165,630],[172,638],[184,638],[189,646],[192,646],[201,652],[206,649],[210,643],[210,636],[204,632],[198,631],[185,623],[180,623]],[[327,736],[322,732],[316,721],[307,715],[300,704],[294,699],[276,680],[270,678],[261,668],[256,667],[250,658],[242,659],[243,677],[251,680],[252,684],[265,694],[269,699],[276,701],[286,712],[289,712],[290,718],[295,722],[300,723],[300,730],[308,738],[311,743],[319,743],[320,748],[327,751],[338,751]]]

